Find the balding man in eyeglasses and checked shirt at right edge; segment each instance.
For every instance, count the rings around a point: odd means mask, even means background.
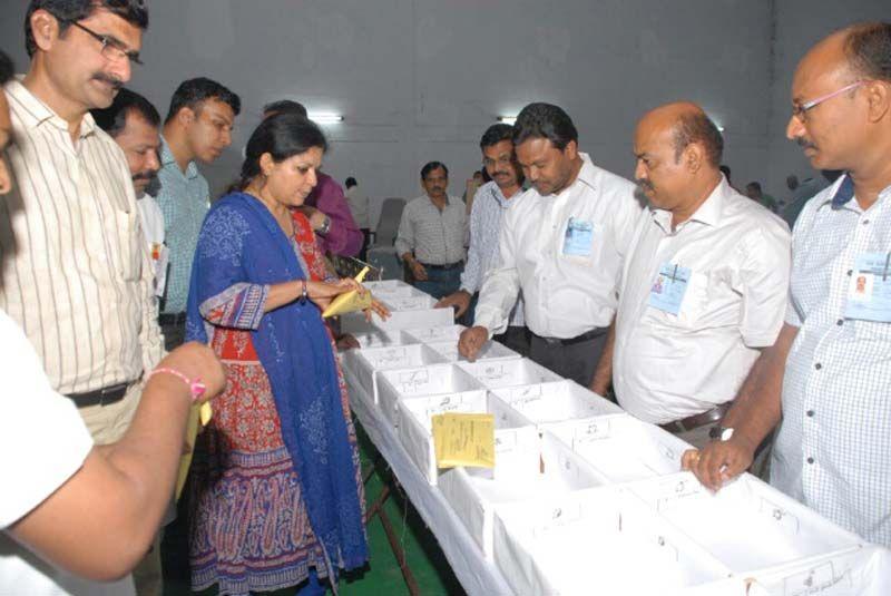
[[[780,423],[771,483],[891,546],[891,23],[822,40],[799,63],[786,136],[845,174],[802,211],[785,324],[723,426],[685,453],[713,489]],[[782,420],[782,422],[781,422]]]

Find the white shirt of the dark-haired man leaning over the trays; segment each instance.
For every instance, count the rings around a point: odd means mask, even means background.
[[[634,184],[579,155],[584,164],[576,180],[559,194],[542,197],[531,188],[510,199],[515,204],[505,214],[498,262],[482,283],[474,313],[474,324],[490,335],[507,329],[520,290],[526,324],[537,335],[576,338],[613,321],[616,284],[640,204]],[[590,226],[582,250],[568,246],[570,218]]]

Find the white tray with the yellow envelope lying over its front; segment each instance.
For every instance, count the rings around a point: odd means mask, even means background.
[[[431,485],[437,483],[440,471],[448,472],[437,467],[430,421],[430,417],[444,412],[495,414],[497,442],[499,442],[499,439],[500,442],[517,440],[513,430],[525,426],[525,420],[521,417],[517,416],[498,398],[484,391],[400,400],[399,428],[396,429],[399,440]],[[535,428],[526,427],[526,429],[535,434]],[[507,439],[501,437],[505,432],[509,434]]]

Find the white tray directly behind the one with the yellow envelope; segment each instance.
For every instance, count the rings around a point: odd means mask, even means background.
[[[378,407],[384,418],[399,426],[399,402],[405,398],[484,394],[482,384],[454,364],[430,364],[381,371],[378,374]]]

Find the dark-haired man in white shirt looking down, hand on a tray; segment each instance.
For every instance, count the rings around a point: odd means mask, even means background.
[[[640,205],[634,184],[578,150],[578,131],[561,108],[530,104],[513,128],[517,158],[533,187],[512,199],[476,326],[458,348],[473,359],[507,329],[522,291],[530,358],[587,387],[616,312],[616,284]]]

